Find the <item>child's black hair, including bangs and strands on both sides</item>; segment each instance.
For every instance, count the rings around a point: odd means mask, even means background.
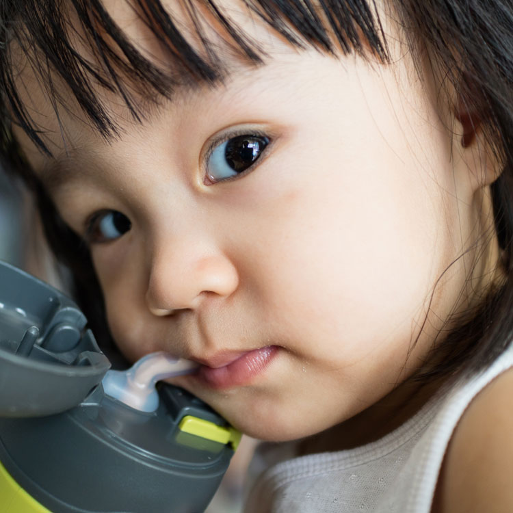
[[[116,25],[101,0],[0,0],[0,147],[8,168],[25,176],[36,193],[49,244],[73,272],[77,301],[96,334],[109,339],[101,290],[86,246],[60,219],[51,199],[23,159],[12,135],[16,124],[44,153],[51,148],[44,131],[31,120],[16,88],[12,47],[21,50],[53,101],[55,114],[66,108],[55,83],[73,94],[85,117],[107,140],[120,127],[97,91],[117,94],[135,120],[144,119],[146,102],[172,98],[176,86],[194,88],[223,81],[228,55],[248,66],[265,62],[265,52],[223,13],[214,0],[181,0],[196,29],[196,46],[159,0],[127,0],[153,32],[169,57],[167,65],[143,55]],[[240,0],[252,16],[267,24],[291,46],[373,55],[389,62],[390,54],[374,0]],[[490,150],[501,163],[492,184],[495,230],[502,252],[505,282],[491,289],[479,308],[451,329],[437,347],[436,365],[419,378],[458,369],[481,369],[510,342],[513,334],[513,5],[503,0],[390,0],[404,29],[414,62],[428,56],[440,83],[465,98],[477,113]],[[202,31],[215,22],[223,48]],[[77,43],[78,42],[78,43]],[[88,49],[85,57],[79,46]],[[98,306],[99,305],[99,306]],[[94,310],[92,309],[94,308]]]

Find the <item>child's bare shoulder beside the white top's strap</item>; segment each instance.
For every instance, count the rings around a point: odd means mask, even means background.
[[[513,369],[476,397],[453,433],[432,513],[513,511]]]

